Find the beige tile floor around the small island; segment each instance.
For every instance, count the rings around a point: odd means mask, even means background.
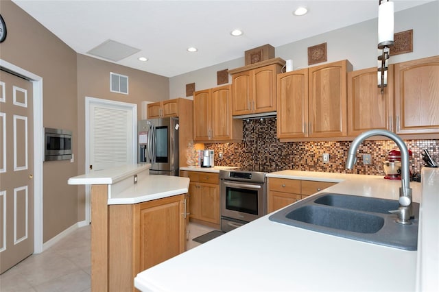
[[[187,249],[200,245],[192,241],[214,230],[189,223]],[[91,291],[90,226],[78,228],[41,254],[33,254],[0,275],[1,292]]]

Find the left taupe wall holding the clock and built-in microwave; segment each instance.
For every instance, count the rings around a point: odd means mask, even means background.
[[[78,153],[76,53],[11,1],[1,0],[0,12],[8,36],[0,44],[0,58],[43,77],[43,125],[73,131]],[[44,162],[43,241],[78,222],[78,195],[67,179],[78,174],[69,160]]]

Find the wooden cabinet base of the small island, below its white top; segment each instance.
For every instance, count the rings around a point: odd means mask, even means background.
[[[186,194],[107,205],[107,185],[92,188],[92,291],[137,291],[137,273],[186,250]]]

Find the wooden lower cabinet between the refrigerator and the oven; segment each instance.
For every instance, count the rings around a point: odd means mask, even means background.
[[[204,171],[181,171],[189,178],[189,218],[213,228],[220,228],[219,174]]]

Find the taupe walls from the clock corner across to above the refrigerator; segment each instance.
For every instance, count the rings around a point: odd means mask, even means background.
[[[73,131],[69,160],[45,162],[43,173],[43,241],[85,219],[83,187],[67,180],[84,173],[84,97],[137,104],[169,99],[167,77],[129,69],[75,53],[10,0],[0,0],[8,36],[0,44],[0,58],[43,77],[43,125]],[[130,77],[130,95],[110,93],[110,71]]]

